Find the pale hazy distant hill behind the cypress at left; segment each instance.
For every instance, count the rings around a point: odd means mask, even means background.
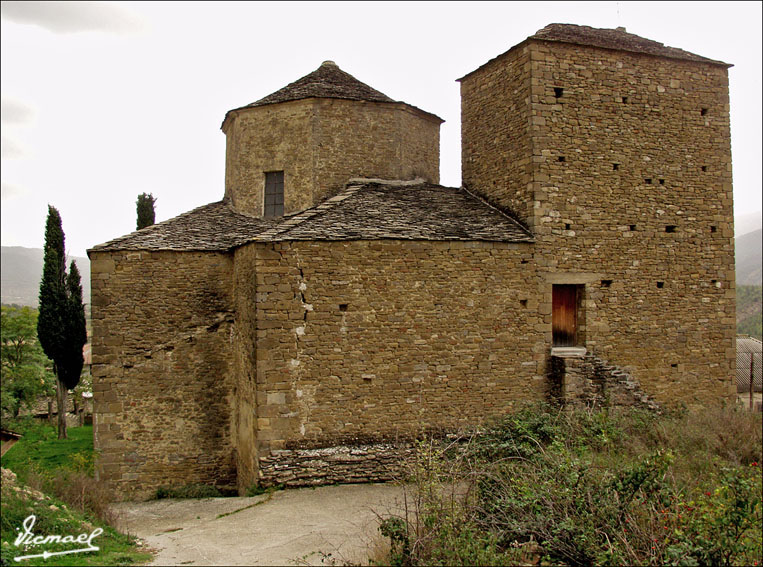
[[[85,303],[90,303],[90,260],[81,256],[67,259],[74,260],[82,275],[82,295]],[[3,246],[0,254],[0,290],[3,303],[16,303],[37,307],[37,296],[42,279],[42,248],[23,248],[21,246]]]

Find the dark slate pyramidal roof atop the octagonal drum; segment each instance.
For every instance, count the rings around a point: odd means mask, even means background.
[[[380,93],[358,81],[349,73],[342,71],[333,61],[324,61],[309,75],[305,75],[273,94],[246,105],[244,108],[312,97],[395,102],[384,93]]]

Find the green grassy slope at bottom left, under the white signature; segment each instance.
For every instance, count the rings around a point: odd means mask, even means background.
[[[130,565],[151,559],[135,538],[119,533],[111,524],[109,495],[92,477],[92,426],[69,428],[69,439],[57,439],[53,427],[23,427],[24,437],[2,457],[3,468],[18,478],[4,476],[2,485],[2,523],[0,525],[0,563],[2,565]],[[74,553],[16,562],[14,557],[77,549],[82,544],[47,543],[15,545],[24,521],[34,515],[35,535],[78,536],[96,529],[103,532],[93,539],[98,551]],[[23,531],[23,530],[22,530]]]

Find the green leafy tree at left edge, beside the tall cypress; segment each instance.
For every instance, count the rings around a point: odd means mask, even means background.
[[[0,365],[2,416],[16,418],[22,405],[30,407],[42,394],[53,390],[52,362],[37,340],[37,310],[2,306]]]

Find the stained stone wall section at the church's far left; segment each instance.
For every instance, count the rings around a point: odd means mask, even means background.
[[[117,495],[230,486],[228,254],[91,252],[97,474]]]

